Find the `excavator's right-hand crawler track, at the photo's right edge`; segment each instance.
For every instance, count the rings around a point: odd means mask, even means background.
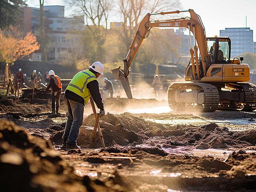
[[[241,89],[244,91],[245,100],[243,103],[243,107],[240,105],[236,110],[242,111],[253,111],[256,109],[256,85],[252,83],[228,83],[227,87],[233,89]],[[231,106],[231,105],[230,105]],[[232,108],[224,108],[224,109],[232,109]]]

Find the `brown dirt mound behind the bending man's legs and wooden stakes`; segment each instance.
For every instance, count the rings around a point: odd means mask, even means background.
[[[83,126],[80,128],[80,133],[77,138],[77,144],[82,148],[100,148],[101,142],[96,134],[96,138],[92,141],[92,131],[95,124],[94,116],[89,115],[84,119]],[[65,126],[64,126],[65,127]],[[145,121],[139,117],[132,116],[128,113],[121,115],[107,114],[100,119],[100,127],[104,137],[105,146],[127,146],[142,144],[142,140],[147,140],[150,136],[162,134],[164,125],[155,124],[150,121]],[[62,129],[63,130],[63,129]],[[51,141],[56,147],[60,147],[62,143],[62,135],[64,131],[58,129],[58,132],[52,132]],[[48,131],[48,133],[49,133]]]

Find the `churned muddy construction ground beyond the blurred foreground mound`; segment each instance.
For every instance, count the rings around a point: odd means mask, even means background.
[[[255,112],[172,111],[167,101],[155,99],[104,103],[107,114],[100,127],[105,150],[98,133],[92,141],[90,103],[77,139],[81,150],[60,149],[67,119],[64,100],[61,115],[55,116],[50,116],[50,103],[2,100],[0,118],[24,127],[33,138],[50,141],[76,175],[104,182],[115,178],[122,188],[113,191],[256,190]]]

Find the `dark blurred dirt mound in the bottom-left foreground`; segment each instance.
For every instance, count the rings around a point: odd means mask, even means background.
[[[0,121],[0,169],[4,191],[121,191],[109,181],[78,177],[51,143],[6,120]]]

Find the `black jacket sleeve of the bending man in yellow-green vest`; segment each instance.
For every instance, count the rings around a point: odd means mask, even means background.
[[[101,94],[100,94],[100,89],[99,89],[99,82],[96,80],[93,80],[89,82],[86,87],[89,89],[92,99],[96,103],[97,107],[99,109],[104,109],[104,104],[102,102]]]

